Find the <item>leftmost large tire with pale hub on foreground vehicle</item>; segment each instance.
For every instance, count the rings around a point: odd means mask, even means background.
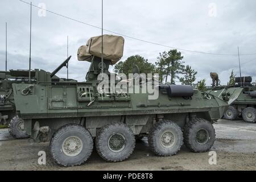
[[[93,139],[81,125],[68,124],[53,135],[50,152],[60,166],[79,166],[92,154]]]

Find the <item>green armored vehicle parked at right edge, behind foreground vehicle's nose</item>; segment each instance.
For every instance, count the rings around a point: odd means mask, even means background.
[[[242,81],[241,81],[242,80]],[[256,122],[256,86],[251,85],[251,77],[236,77],[234,86],[218,86],[208,90],[229,104],[224,118],[235,120],[242,117],[245,122]]]

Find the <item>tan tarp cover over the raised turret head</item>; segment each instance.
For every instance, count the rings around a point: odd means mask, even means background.
[[[103,35],[103,58],[117,63],[123,56],[123,45],[125,40],[122,36]],[[86,44],[87,53],[101,57],[101,36],[90,38]]]

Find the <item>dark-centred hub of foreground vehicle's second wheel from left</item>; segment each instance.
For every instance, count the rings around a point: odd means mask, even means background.
[[[125,148],[126,139],[120,133],[114,133],[109,137],[108,147],[113,152],[120,152]]]

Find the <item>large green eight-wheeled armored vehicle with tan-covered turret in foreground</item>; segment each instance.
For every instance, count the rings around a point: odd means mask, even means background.
[[[84,163],[93,143],[101,158],[125,160],[133,153],[135,137],[148,137],[152,152],[159,156],[176,154],[183,142],[193,152],[213,146],[212,123],[228,104],[189,85],[164,85],[156,77],[144,78],[136,67],[129,79],[110,73],[109,66],[122,57],[123,38],[104,35],[103,59],[99,42],[99,37],[91,38],[79,49],[79,60],[90,61],[86,82],[55,76],[66,60],[52,73],[32,71],[33,83],[13,84],[16,111],[24,119],[26,133],[37,141],[50,141],[57,164]],[[114,77],[112,84],[111,79],[110,84],[105,82],[109,77]],[[128,89],[147,85],[154,92],[124,92],[125,84]]]

